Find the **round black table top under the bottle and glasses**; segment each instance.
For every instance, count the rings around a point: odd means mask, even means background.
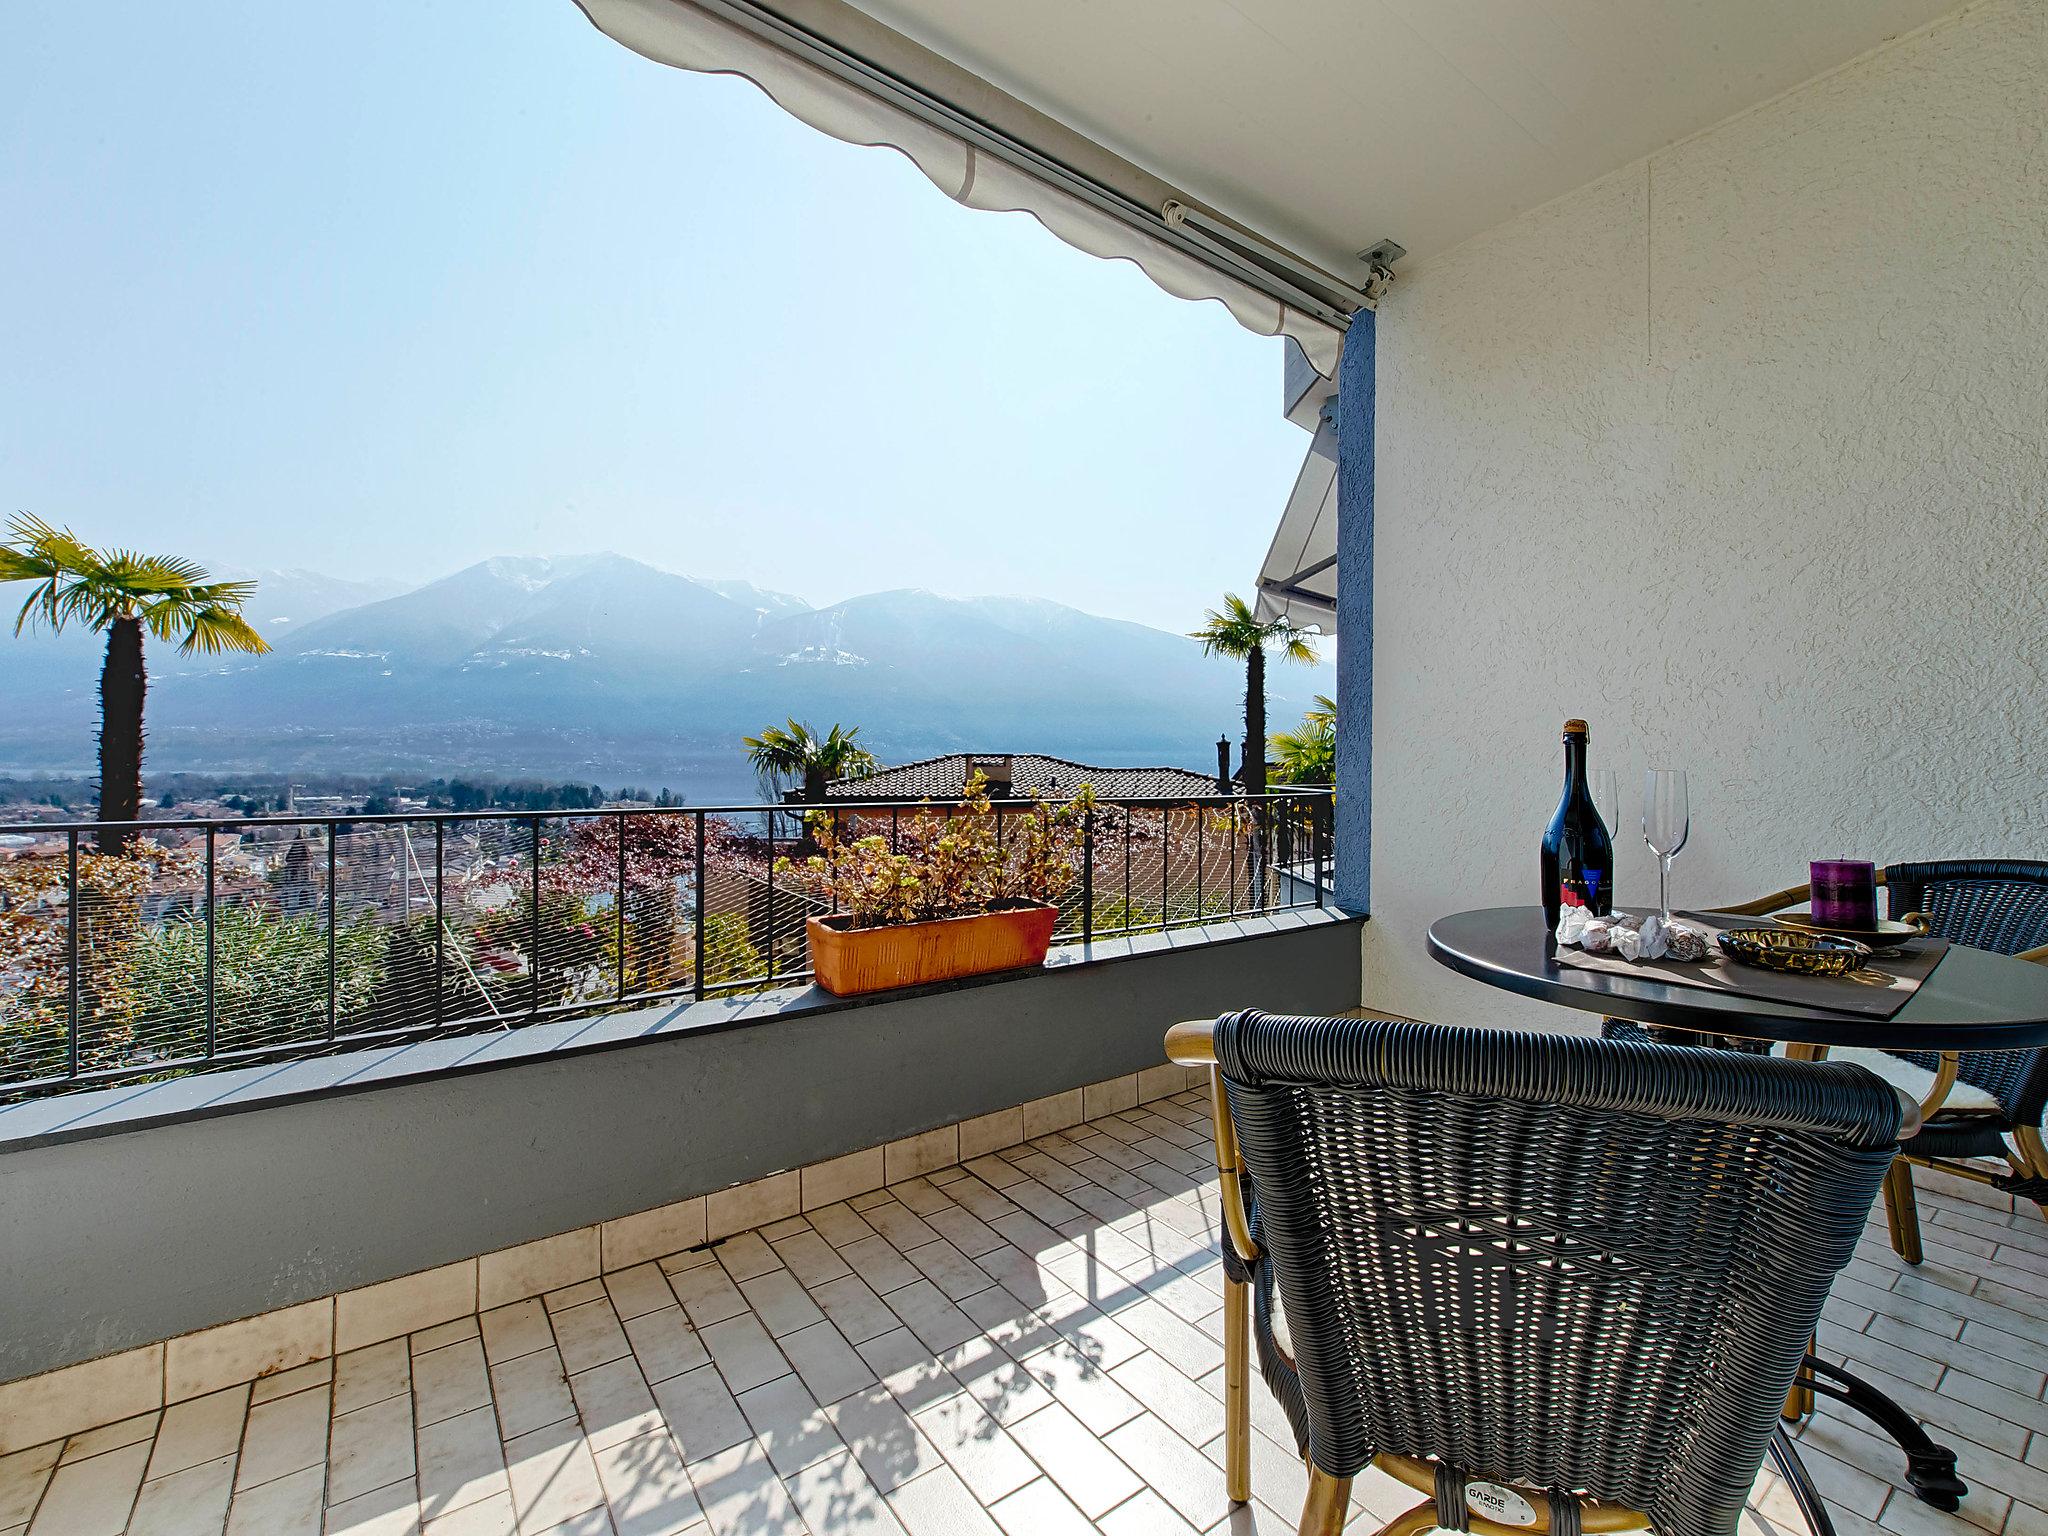
[[[1591,1014],[1706,1034],[1886,1051],[2007,1051],[2048,1044],[2048,965],[1952,944],[1892,1018],[1618,977],[1556,963],[1542,907],[1483,907],[1430,924],[1430,954],[1491,987]]]

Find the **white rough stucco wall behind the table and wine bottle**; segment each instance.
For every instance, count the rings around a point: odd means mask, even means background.
[[[1415,272],[1378,319],[1366,1001],[1534,901],[1559,725],[1692,772],[1673,901],[2048,856],[2048,0],[1991,0]],[[1399,231],[1397,231],[1399,233]]]

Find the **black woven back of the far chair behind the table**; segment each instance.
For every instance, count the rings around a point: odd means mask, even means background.
[[[2048,944],[2048,864],[2025,858],[1942,858],[1884,868],[1892,918],[1925,911],[1952,944],[2019,954]],[[1935,1055],[1896,1053],[1927,1071]],[[2040,1051],[1966,1051],[1956,1071],[1999,1100],[2013,1124],[2040,1124],[2048,1100],[2048,1055]]]

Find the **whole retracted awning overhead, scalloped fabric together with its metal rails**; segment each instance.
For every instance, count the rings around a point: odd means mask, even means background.
[[[575,2],[635,53],[743,76],[821,133],[899,150],[956,203],[1030,213],[1176,297],[1217,299],[1245,328],[1292,338],[1323,375],[1372,301],[844,0]]]

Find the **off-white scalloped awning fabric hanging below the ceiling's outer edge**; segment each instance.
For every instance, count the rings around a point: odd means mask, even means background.
[[[1135,262],[1180,299],[1217,299],[1241,326],[1260,336],[1292,336],[1325,377],[1337,369],[1341,324],[1305,313],[1266,287],[1233,276],[1223,266],[1176,244],[1167,203],[1149,209],[1159,236],[1149,233],[1112,193],[1098,203],[1034,176],[932,121],[887,100],[881,92],[801,57],[772,29],[741,25],[743,8],[731,0],[575,0],[606,37],[657,63],[698,74],[737,74],[760,86],[778,106],[846,143],[899,150],[934,186],[965,207],[1030,213],[1069,246],[1092,256]],[[727,14],[715,14],[715,8]],[[1028,158],[1028,156],[1026,156]],[[1047,162],[1053,164],[1051,160]],[[1135,172],[1137,174],[1137,172]],[[1149,178],[1147,178],[1149,180]],[[1284,289],[1284,285],[1280,285]],[[1337,317],[1341,319],[1341,315]]]

